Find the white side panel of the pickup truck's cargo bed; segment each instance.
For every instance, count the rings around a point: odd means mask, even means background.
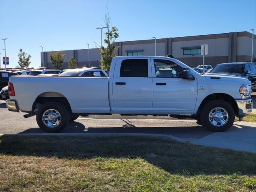
[[[107,77],[11,76],[10,82],[21,111],[31,111],[38,96],[50,96],[66,97],[73,113],[110,113]]]

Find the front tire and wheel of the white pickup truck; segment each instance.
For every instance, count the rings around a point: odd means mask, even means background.
[[[209,102],[201,111],[202,125],[213,132],[228,130],[233,125],[234,120],[234,109],[229,103],[222,100]]]

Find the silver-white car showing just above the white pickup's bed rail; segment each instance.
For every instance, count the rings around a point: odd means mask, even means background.
[[[59,76],[86,76],[86,77],[107,77],[108,74],[101,68],[77,68],[66,70]]]

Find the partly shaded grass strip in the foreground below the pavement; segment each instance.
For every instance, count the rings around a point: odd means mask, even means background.
[[[135,136],[2,136],[0,191],[256,191],[256,154]]]

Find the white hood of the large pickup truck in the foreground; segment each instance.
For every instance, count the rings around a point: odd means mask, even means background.
[[[247,78],[235,76],[235,75],[229,75],[229,74],[212,74],[212,73],[206,73],[201,74],[208,80],[224,80],[224,81],[232,81],[232,82],[241,82],[242,84],[248,84],[251,83]],[[215,78],[212,78],[215,77]],[[219,77],[219,79],[218,79]]]

